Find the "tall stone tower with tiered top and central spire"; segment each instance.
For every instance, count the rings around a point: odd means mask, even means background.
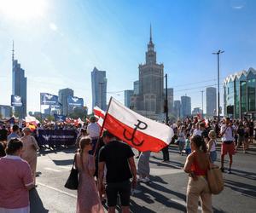
[[[164,107],[164,65],[156,62],[151,26],[146,63],[138,68],[139,91],[137,95],[131,95],[131,109],[148,118],[158,119]]]

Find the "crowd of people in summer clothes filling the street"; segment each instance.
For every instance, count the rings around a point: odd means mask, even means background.
[[[187,210],[197,212],[201,199],[203,212],[212,212],[212,194],[207,185],[207,169],[215,164],[216,147],[221,143],[221,170],[224,156],[230,157],[231,173],[233,155],[247,153],[254,139],[253,120],[214,120],[186,118],[169,124],[174,131],[172,144],[178,153],[186,155],[183,170],[189,173]],[[77,212],[104,212],[102,204],[108,203],[108,212],[115,212],[119,198],[122,212],[129,212],[131,191],[137,181],[150,181],[150,151],[139,152],[137,166],[133,150],[107,130],[101,128],[96,118],[86,124],[38,124],[37,129],[14,124],[0,127],[0,212],[29,212],[29,190],[36,185],[38,130],[76,130],[74,163],[79,170]],[[20,131],[21,130],[21,131]],[[168,146],[162,149],[163,162],[169,161]],[[137,179],[138,176],[138,179]],[[13,211],[10,211],[13,210]]]

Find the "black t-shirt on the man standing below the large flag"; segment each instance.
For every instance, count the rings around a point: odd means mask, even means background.
[[[133,156],[131,147],[123,142],[111,141],[102,147],[99,162],[106,164],[108,183],[128,181],[132,177],[128,158]]]

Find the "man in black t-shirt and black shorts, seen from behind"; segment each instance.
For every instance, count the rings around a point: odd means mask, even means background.
[[[102,192],[104,166],[107,167],[107,187],[108,213],[115,212],[117,196],[119,193],[122,212],[130,212],[131,187],[136,187],[137,170],[134,162],[134,153],[131,147],[123,142],[117,141],[114,135],[107,131],[107,145],[102,147],[99,154],[99,174],[98,188]],[[132,181],[130,182],[130,178]]]

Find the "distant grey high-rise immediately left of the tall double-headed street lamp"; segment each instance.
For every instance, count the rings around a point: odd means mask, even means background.
[[[207,118],[216,116],[217,112],[217,92],[215,87],[207,88]]]

